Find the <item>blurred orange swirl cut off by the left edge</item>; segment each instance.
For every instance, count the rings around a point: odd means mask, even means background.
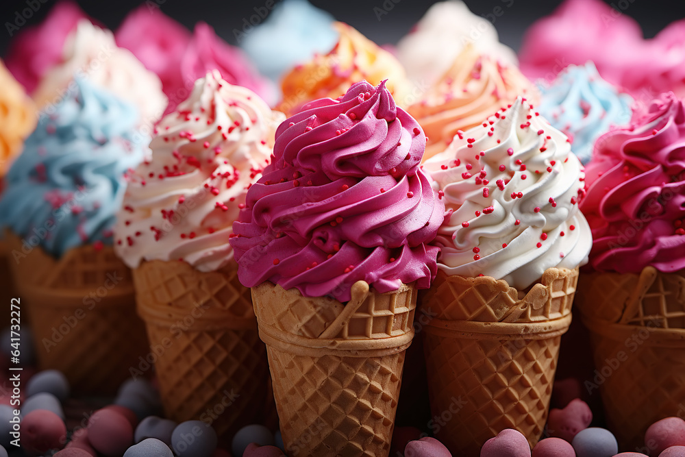
[[[0,61],[0,179],[36,127],[35,114],[33,102]]]

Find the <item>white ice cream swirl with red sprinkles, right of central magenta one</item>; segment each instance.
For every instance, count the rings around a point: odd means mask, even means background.
[[[435,244],[448,275],[482,274],[523,289],[550,267],[587,261],[582,164],[525,99],[456,136],[424,169],[444,193]]]

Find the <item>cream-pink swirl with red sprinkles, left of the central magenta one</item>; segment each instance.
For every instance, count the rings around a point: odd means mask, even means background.
[[[116,254],[131,268],[143,260],[184,260],[214,271],[232,261],[231,225],[269,163],[284,117],[219,71],[198,79],[157,126],[151,160],[129,173],[114,227]]]

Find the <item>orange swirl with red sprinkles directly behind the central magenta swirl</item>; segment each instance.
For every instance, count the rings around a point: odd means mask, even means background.
[[[408,82],[397,58],[347,24],[336,22],[333,27],[340,34],[338,43],[326,55],[315,55],[284,76],[283,100],[277,109],[292,116],[309,101],[345,95],[362,79],[373,86],[388,79],[386,88],[402,106]]]

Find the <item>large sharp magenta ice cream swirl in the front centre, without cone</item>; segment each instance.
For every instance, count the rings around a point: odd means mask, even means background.
[[[379,293],[427,288],[444,205],[419,169],[425,142],[384,82],[358,82],[284,121],[234,223],[240,282],[340,301],[359,280]]]

